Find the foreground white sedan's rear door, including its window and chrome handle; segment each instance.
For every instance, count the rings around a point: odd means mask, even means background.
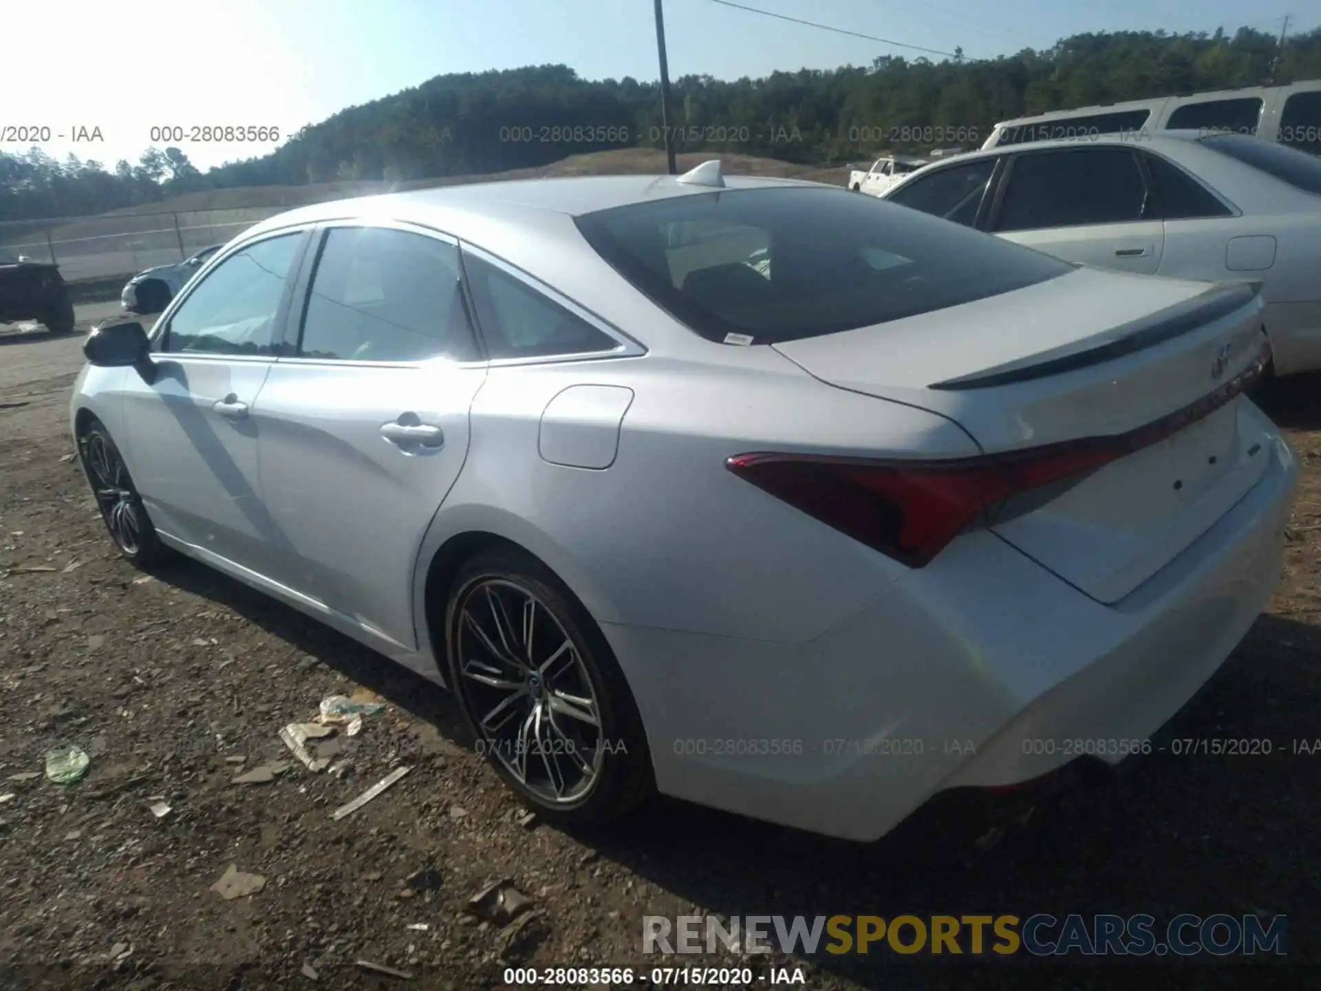
[[[262,390],[258,461],[281,585],[416,646],[413,566],[486,377],[458,244],[403,223],[318,229]]]

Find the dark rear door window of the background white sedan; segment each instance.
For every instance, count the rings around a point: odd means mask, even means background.
[[[1070,148],[1017,157],[996,230],[1123,223],[1143,217],[1147,184],[1128,148]]]

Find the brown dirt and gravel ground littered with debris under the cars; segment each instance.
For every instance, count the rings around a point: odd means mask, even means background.
[[[198,564],[144,576],[111,552],[69,460],[79,345],[0,337],[0,794],[13,794],[0,803],[0,987],[493,987],[523,961],[650,969],[641,916],[696,912],[1280,913],[1283,961],[791,965],[808,988],[1318,986],[1321,754],[1292,753],[1321,737],[1317,378],[1263,398],[1305,462],[1284,583],[1156,741],[1269,739],[1273,753],[1139,757],[962,858],[925,855],[911,830],[861,847],[668,801],[606,835],[520,825],[439,690]],[[292,762],[276,736],[332,692],[386,702],[342,737],[342,777]],[[41,774],[62,741],[91,754],[73,785]],[[269,760],[291,766],[232,784]],[[392,766],[411,772],[332,821]],[[170,811],[156,818],[155,802]],[[222,899],[230,864],[264,887]],[[515,933],[465,914],[502,877],[534,902]]]

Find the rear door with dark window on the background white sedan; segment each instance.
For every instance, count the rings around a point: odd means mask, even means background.
[[[1155,275],[1165,248],[1137,155],[1122,145],[1013,155],[989,229],[1066,262],[1141,275]]]

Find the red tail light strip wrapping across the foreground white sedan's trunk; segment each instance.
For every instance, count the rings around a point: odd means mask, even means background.
[[[930,563],[984,510],[1151,447],[1229,403],[1260,378],[1269,345],[1239,375],[1182,410],[1110,437],[1083,437],[1004,455],[877,461],[748,453],[725,466],[771,495],[913,568]]]

